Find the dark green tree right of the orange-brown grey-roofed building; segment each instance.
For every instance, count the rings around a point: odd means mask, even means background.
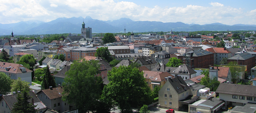
[[[106,60],[107,62],[111,62],[113,60],[113,58],[111,57],[110,52],[108,51],[108,47],[100,47],[96,50],[95,53],[96,57],[101,57],[104,60]]]

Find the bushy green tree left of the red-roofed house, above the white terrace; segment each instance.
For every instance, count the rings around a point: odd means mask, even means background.
[[[216,77],[210,79],[208,76],[205,76],[201,79],[200,84],[205,85],[207,88],[210,88],[211,91],[215,92],[220,85],[220,81]]]

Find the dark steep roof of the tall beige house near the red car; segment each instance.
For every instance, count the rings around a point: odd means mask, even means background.
[[[176,90],[178,94],[181,94],[187,90],[189,90],[189,86],[185,83],[185,81],[181,78],[181,76],[175,77],[173,79],[168,80],[172,87]],[[186,89],[186,90],[185,90]]]

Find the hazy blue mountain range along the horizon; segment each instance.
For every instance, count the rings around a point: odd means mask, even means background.
[[[92,19],[90,16],[86,18],[57,18],[53,21],[21,21],[18,23],[1,24],[0,35],[10,35],[13,29],[14,34],[61,34],[61,33],[80,33],[82,21],[85,27],[91,27],[93,33],[116,33],[124,32],[158,32],[158,31],[236,31],[236,30],[256,30],[256,25],[234,24],[225,25],[222,23],[211,23],[205,25],[185,24],[182,22],[160,21],[133,21],[129,18],[121,18],[113,21],[102,21]]]

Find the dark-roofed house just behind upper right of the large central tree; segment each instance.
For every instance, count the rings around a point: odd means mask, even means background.
[[[135,62],[141,64],[141,66],[146,66],[149,70],[152,70],[157,64],[152,56],[138,58]]]

